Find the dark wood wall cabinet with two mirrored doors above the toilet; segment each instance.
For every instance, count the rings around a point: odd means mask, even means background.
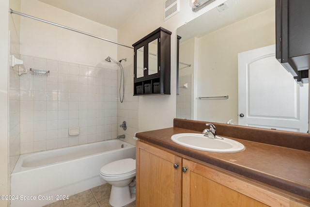
[[[134,96],[170,94],[171,32],[160,27],[134,47]]]

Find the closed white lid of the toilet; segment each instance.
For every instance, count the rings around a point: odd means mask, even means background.
[[[134,173],[136,171],[135,159],[120,159],[106,164],[100,169],[101,175],[120,176]]]

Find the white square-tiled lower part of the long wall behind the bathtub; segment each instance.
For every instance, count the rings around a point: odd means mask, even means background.
[[[117,70],[21,55],[49,76],[20,76],[20,153],[114,139]],[[69,127],[80,134],[69,136]]]

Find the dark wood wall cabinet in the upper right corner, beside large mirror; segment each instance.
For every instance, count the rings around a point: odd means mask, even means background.
[[[276,57],[300,84],[309,82],[310,0],[276,0]]]

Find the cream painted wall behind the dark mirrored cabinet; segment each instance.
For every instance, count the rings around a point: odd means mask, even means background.
[[[132,97],[133,94],[133,75],[130,75],[132,81],[129,89],[130,93],[125,98],[130,100],[129,108],[123,111],[132,111],[132,125],[137,127],[136,131],[153,130],[158,128],[172,127],[173,118],[176,116],[176,30],[181,25],[200,16],[208,10],[204,8],[197,13],[193,13],[187,0],[180,0],[180,12],[170,19],[164,21],[164,8],[166,0],[148,0],[133,16],[130,16],[126,22],[118,29],[118,42],[126,45],[132,45],[145,35],[153,32],[159,27],[163,27],[172,32],[171,34],[171,95],[167,96],[139,96]],[[218,4],[222,3],[217,2]],[[126,48],[118,50],[119,57],[127,57],[127,64],[133,65],[133,51]],[[131,57],[131,58],[129,58]],[[133,66],[129,68],[130,74],[133,74]],[[131,96],[131,97],[130,97]],[[132,108],[130,108],[132,107]]]

